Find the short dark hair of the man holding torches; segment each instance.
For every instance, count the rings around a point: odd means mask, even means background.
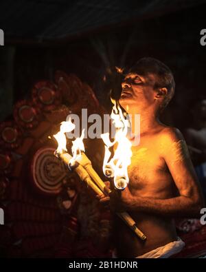
[[[161,107],[168,105],[174,95],[175,82],[174,76],[167,65],[157,59],[146,57],[137,61],[129,72],[137,73],[140,76],[154,74],[157,79],[154,88],[166,87],[168,90],[168,94],[165,96]]]

